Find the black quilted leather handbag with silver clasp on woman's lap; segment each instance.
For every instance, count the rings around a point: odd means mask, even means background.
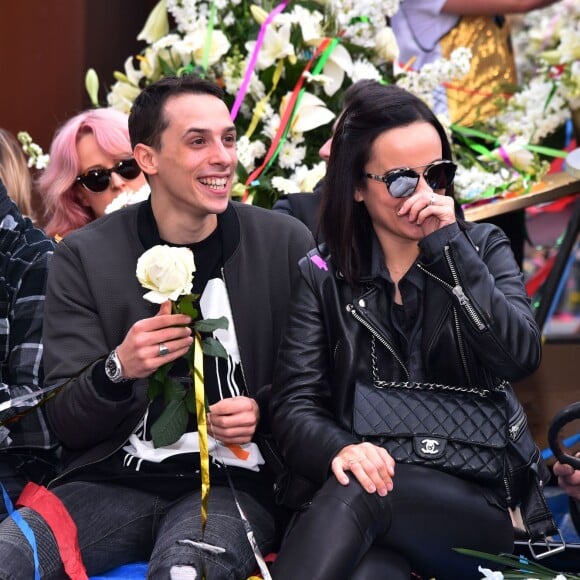
[[[485,482],[498,482],[504,474],[508,421],[503,391],[481,397],[357,383],[353,427],[361,438],[385,447],[395,461]],[[421,453],[421,442],[442,451]]]

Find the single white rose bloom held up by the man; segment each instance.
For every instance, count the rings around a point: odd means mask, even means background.
[[[143,298],[154,304],[189,294],[195,263],[189,248],[154,246],[137,260],[137,279],[151,290]]]

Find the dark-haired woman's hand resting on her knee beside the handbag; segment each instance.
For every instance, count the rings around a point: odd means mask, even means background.
[[[332,473],[342,485],[350,482],[350,471],[368,493],[387,495],[393,489],[395,460],[382,447],[357,443],[343,447],[332,460]]]

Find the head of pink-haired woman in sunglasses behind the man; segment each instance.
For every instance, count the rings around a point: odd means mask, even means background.
[[[121,192],[146,184],[133,159],[127,116],[91,109],[56,133],[50,163],[39,178],[49,236],[60,238],[101,217]]]

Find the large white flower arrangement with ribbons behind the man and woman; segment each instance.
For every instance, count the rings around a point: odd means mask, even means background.
[[[233,194],[270,207],[280,194],[312,191],[324,176],[318,150],[349,85],[397,82],[429,103],[433,87],[469,70],[467,49],[419,73],[397,67],[387,22],[398,7],[399,0],[286,0],[256,2],[248,12],[241,0],[161,0],[138,37],[148,46],[114,73],[107,102],[128,111],[143,86],[168,74],[215,80],[238,127]]]

